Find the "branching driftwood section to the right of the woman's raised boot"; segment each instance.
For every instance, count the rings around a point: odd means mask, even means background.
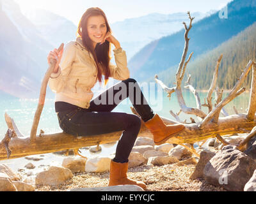
[[[193,92],[195,99],[196,99],[196,108],[191,108],[186,106],[186,103],[184,101],[184,98],[182,96],[182,80],[184,77],[184,73],[186,71],[186,66],[188,62],[191,59],[191,55],[193,55],[193,52],[189,55],[188,60],[186,61],[186,55],[188,53],[188,45],[189,40],[188,38],[188,32],[192,27],[192,21],[194,18],[191,18],[190,13],[188,12],[190,24],[189,27],[187,27],[186,23],[184,23],[185,27],[185,47],[184,52],[182,55],[182,59],[179,64],[179,68],[177,70],[176,74],[176,82],[175,87],[167,87],[159,78],[155,77],[156,83],[159,84],[164,91],[167,92],[167,96],[171,97],[173,92],[176,92],[177,99],[179,102],[179,106],[182,110],[182,112],[186,114],[196,115],[199,122],[192,121],[192,123],[184,124],[186,126],[186,129],[183,133],[180,133],[179,136],[175,136],[168,140],[170,143],[195,143],[200,142],[204,143],[208,138],[218,138],[220,142],[227,145],[228,143],[221,137],[221,136],[231,136],[234,133],[250,133],[253,129],[253,127],[256,125],[255,121],[255,110],[256,110],[256,71],[255,71],[255,62],[249,61],[246,67],[243,70],[243,73],[239,80],[237,80],[236,85],[233,87],[232,91],[228,94],[228,96],[225,99],[222,99],[223,90],[220,90],[218,87],[216,87],[216,82],[218,79],[218,69],[220,66],[221,59],[223,58],[223,55],[221,55],[217,61],[214,75],[212,77],[212,83],[211,87],[209,88],[208,94],[207,94],[207,102],[204,100],[204,104],[201,105],[200,98],[195,90],[195,88],[190,84],[191,75],[188,75],[188,81],[186,82],[185,88],[189,89],[191,92]],[[186,61],[186,62],[185,62]],[[224,106],[227,105],[232,99],[236,98],[240,94],[242,94],[245,91],[245,88],[241,85],[243,84],[245,78],[248,76],[248,73],[250,72],[250,69],[253,68],[253,76],[252,76],[252,85],[251,85],[251,93],[250,93],[250,104],[248,105],[248,112],[247,113],[240,113],[238,114],[236,111],[236,115],[228,115],[228,113],[225,111]],[[212,107],[212,94],[214,92],[214,89],[216,91],[216,103],[215,106]],[[207,106],[208,107],[208,113],[204,113],[202,111],[201,106]],[[234,110],[236,110],[234,108]],[[223,113],[225,117],[220,117],[220,113]],[[172,113],[173,115],[173,113]],[[176,115],[173,115],[175,119],[178,119]],[[180,120],[178,120],[180,122]],[[237,147],[237,149],[242,150],[248,140],[252,138],[255,135],[254,131],[252,131],[243,142],[241,142],[241,145]],[[191,152],[194,152],[193,149],[191,149]]]

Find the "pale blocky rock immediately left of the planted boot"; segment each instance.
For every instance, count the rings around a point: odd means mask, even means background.
[[[104,172],[109,171],[111,158],[95,157],[88,159],[85,165],[86,172]]]

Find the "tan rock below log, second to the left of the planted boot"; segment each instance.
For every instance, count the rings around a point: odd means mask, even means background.
[[[87,159],[67,157],[63,159],[62,166],[68,168],[72,173],[84,172]]]

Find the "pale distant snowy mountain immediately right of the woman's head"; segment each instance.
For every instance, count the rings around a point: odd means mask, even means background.
[[[198,21],[209,13],[193,13]],[[150,13],[143,17],[129,18],[111,24],[111,29],[126,51],[127,59],[140,51],[145,45],[163,36],[182,29],[182,22],[188,22],[186,13]]]

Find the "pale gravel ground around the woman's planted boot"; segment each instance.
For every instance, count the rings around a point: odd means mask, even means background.
[[[149,167],[145,164],[129,168],[128,177],[147,184],[146,191],[225,191],[221,187],[207,184],[204,179],[189,180],[195,165]],[[35,191],[69,191],[74,188],[106,187],[109,171],[103,173],[75,173],[74,177],[59,186],[36,186]]]

